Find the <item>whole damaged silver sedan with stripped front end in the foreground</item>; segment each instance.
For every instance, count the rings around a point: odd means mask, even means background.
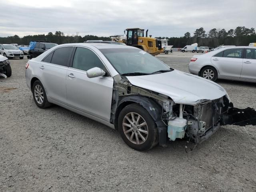
[[[92,118],[136,150],[177,138],[198,144],[221,125],[256,125],[255,110],[234,108],[220,85],[130,46],[56,46],[28,61],[26,83],[38,107]]]

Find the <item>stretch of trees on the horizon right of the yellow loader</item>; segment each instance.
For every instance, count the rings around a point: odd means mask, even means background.
[[[248,46],[249,43],[256,42],[256,33],[254,28],[238,26],[235,30],[230,29],[211,29],[208,33],[204,28],[196,29],[194,35],[186,32],[183,37],[156,37],[158,39],[168,39],[168,45],[176,48],[183,48],[186,45],[198,43],[198,46],[217,47],[224,45]]]

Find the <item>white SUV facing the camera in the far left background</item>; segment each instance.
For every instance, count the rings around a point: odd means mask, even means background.
[[[24,57],[23,51],[11,44],[0,44],[0,54],[7,58],[23,59]]]

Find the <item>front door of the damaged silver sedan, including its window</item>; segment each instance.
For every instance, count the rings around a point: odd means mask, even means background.
[[[86,71],[94,67],[106,71],[106,76],[88,78]],[[110,122],[113,83],[113,78],[93,50],[76,48],[66,78],[68,106]]]

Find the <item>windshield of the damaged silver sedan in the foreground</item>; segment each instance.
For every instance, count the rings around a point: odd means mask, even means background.
[[[100,49],[119,74],[151,74],[173,70],[147,52],[134,48]]]

